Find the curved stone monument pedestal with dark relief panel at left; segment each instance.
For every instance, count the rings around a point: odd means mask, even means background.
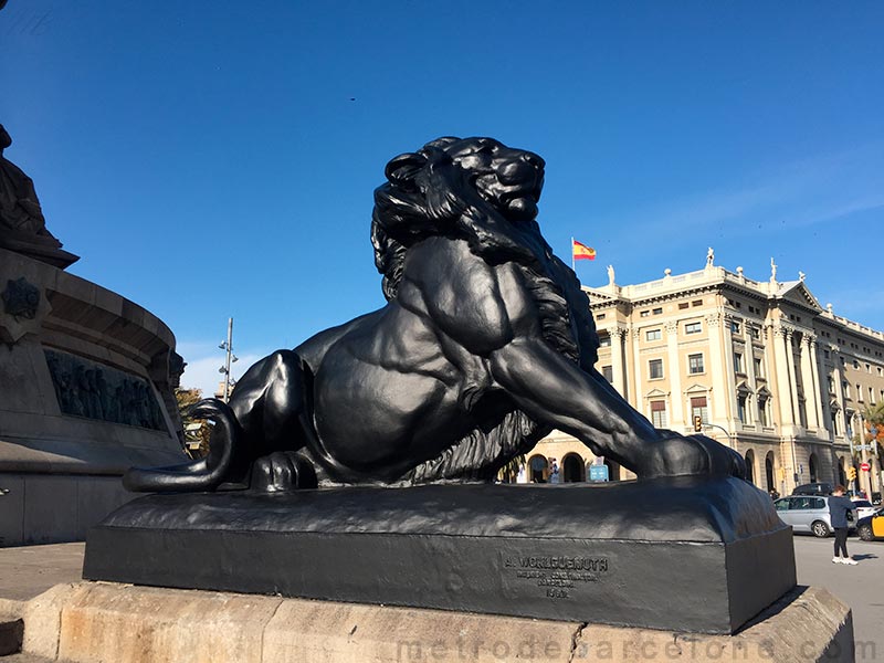
[[[0,248],[0,546],[82,539],[129,466],[185,460],[173,349],[137,304]]]

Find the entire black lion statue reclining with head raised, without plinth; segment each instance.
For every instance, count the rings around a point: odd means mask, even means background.
[[[655,430],[593,368],[573,272],[535,221],[544,160],[491,138],[392,159],[371,242],[387,305],[262,359],[215,421],[209,455],[133,469],[134,491],[490,481],[554,428],[640,478],[736,475],[741,457]]]

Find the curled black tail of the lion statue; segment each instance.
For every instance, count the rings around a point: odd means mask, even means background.
[[[211,446],[204,459],[167,467],[131,467],[123,485],[134,493],[211,491],[230,480],[234,452],[242,443],[242,430],[227,403],[209,398],[190,410],[190,415],[215,422]]]

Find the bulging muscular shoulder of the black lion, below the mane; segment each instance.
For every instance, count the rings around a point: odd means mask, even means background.
[[[509,343],[530,317],[519,278],[512,265],[490,265],[463,240],[431,238],[409,252],[397,299],[471,352],[485,355]]]

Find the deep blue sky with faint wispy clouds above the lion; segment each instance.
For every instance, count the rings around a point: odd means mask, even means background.
[[[383,304],[391,157],[486,135],[547,160],[539,222],[631,284],[807,273],[884,329],[884,2],[118,2],[0,11],[6,156],[70,267],[173,330],[183,386]]]

